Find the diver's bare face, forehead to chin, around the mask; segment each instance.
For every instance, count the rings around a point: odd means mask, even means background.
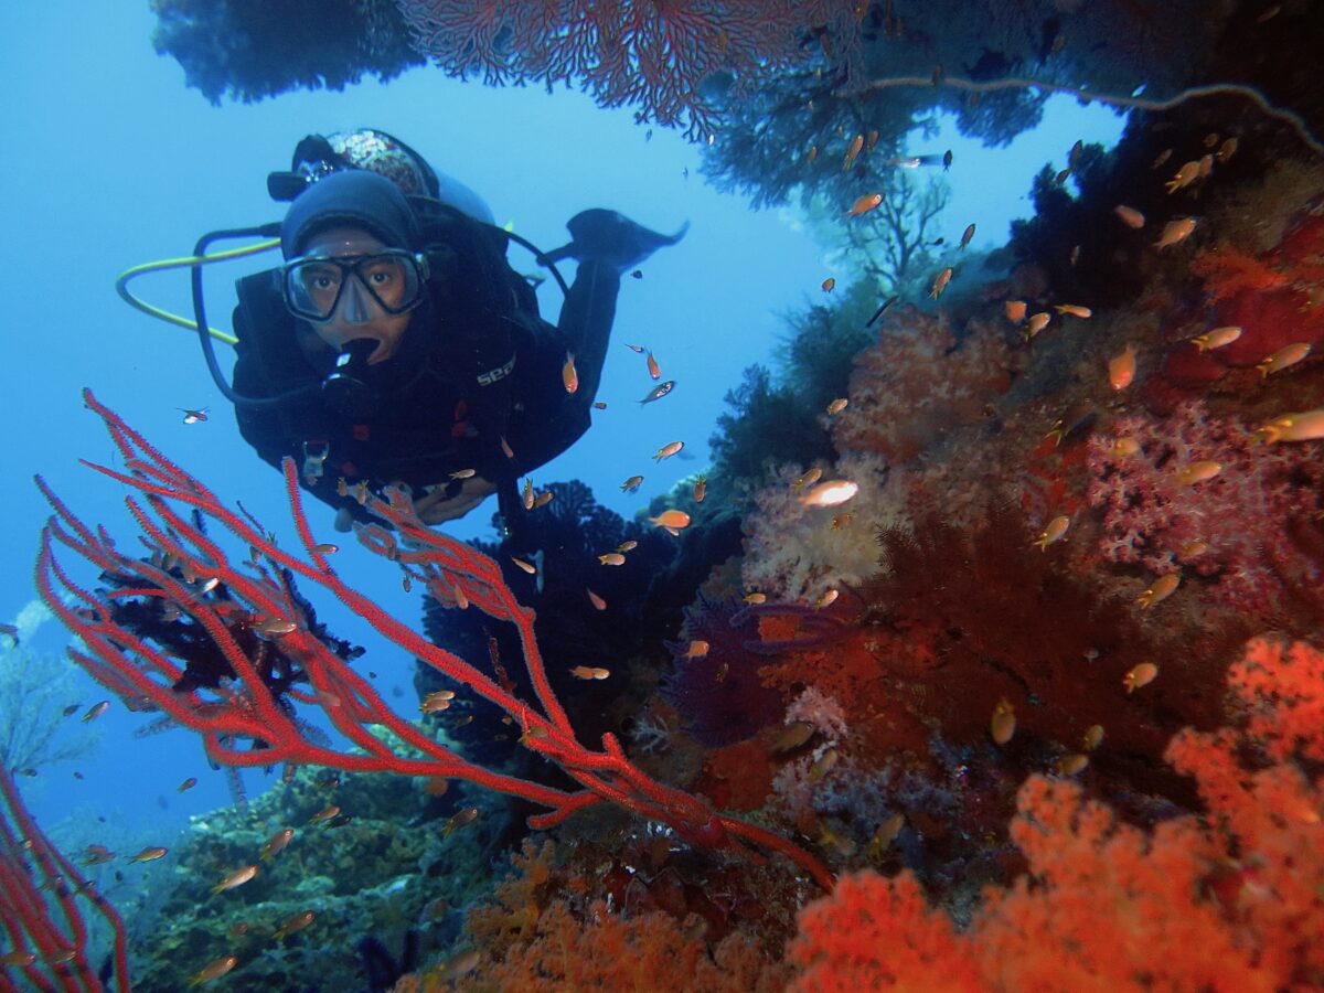
[[[361,228],[328,228],[308,240],[303,248],[303,257],[335,258],[342,262],[352,262],[363,256],[383,252],[385,248],[381,241]],[[373,299],[372,293],[368,293],[363,282],[364,278],[380,279],[373,286],[373,291],[388,305],[393,305],[395,301],[391,299],[389,294],[397,290],[389,286],[387,277],[387,273],[375,273],[373,270],[365,273],[360,270],[348,274],[346,285],[340,287],[340,299],[336,302],[331,316],[327,320],[312,323],[312,330],[316,331],[318,338],[338,352],[343,351],[350,342],[356,339],[376,342],[377,347],[368,356],[369,365],[387,361],[395,355],[400,347],[400,340],[405,335],[405,328],[409,327],[409,318],[413,311],[395,315],[388,314]]]

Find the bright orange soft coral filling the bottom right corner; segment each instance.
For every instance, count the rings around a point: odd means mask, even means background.
[[[1029,871],[990,890],[965,935],[927,910],[907,874],[847,876],[801,915],[789,951],[798,988],[1324,985],[1324,655],[1256,639],[1229,682],[1246,726],[1184,731],[1166,753],[1194,777],[1207,817],[1147,831],[1075,782],[1031,776],[1012,825]],[[1274,764],[1247,764],[1256,753]]]

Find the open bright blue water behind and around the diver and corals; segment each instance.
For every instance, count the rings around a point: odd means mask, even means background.
[[[188,254],[203,232],[278,218],[265,177],[287,166],[306,134],[356,126],[397,134],[483,195],[498,222],[547,248],[561,244],[564,221],[589,207],[620,209],[659,230],[691,222],[678,248],[643,266],[642,279],[625,279],[598,396],[608,409],[571,451],[535,474],[539,485],[581,478],[598,502],[625,515],[703,469],[724,393],[747,365],[771,360],[784,335],[782,315],[821,297],[820,283],[831,274],[793,211],[755,213],[741,199],[716,193],[699,175],[696,147],[661,128],[650,138],[628,110],[598,110],[572,91],[486,90],[429,69],[385,86],[365,82],[344,93],[212,107],[184,87],[173,61],[152,50],[152,24],[146,3],[9,3],[0,11],[7,107],[0,410],[8,428],[0,620],[34,596],[30,563],[48,508],[33,474],[41,473],[86,520],[111,524],[126,539],[130,534],[119,487],[78,463],[115,459],[99,422],[82,408],[82,387],[293,540],[281,479],[240,438],[196,339],[130,310],[115,297],[114,279],[130,265]],[[1005,241],[1010,218],[1029,213],[1030,177],[1045,162],[1061,168],[1078,138],[1111,144],[1120,130],[1113,113],[1059,99],[1050,102],[1045,123],[1010,148],[988,152],[948,126],[912,151],[953,150],[953,199],[940,226],[955,240],[974,221],[974,246],[993,248]],[[532,271],[518,250],[512,260]],[[209,274],[213,324],[228,324],[232,281],[273,261]],[[160,306],[188,310],[179,274],[135,289]],[[542,303],[544,314],[559,307],[547,287]],[[634,402],[651,381],[625,342],[650,347],[663,376],[678,381],[665,401]],[[204,406],[205,424],[181,422],[180,408]],[[674,440],[683,440],[692,458],[654,465],[649,455]],[[636,473],[646,475],[643,487],[622,494],[621,481]],[[491,511],[487,504],[450,530],[489,536]],[[330,510],[318,504],[310,514],[330,538]],[[417,617],[417,593],[402,593],[395,569],[365,553],[343,555],[342,572],[364,567],[364,587],[384,606]],[[324,620],[343,637],[373,645],[361,624],[332,609]],[[33,646],[60,653],[66,642],[48,624]],[[401,710],[412,710],[408,659],[400,654],[375,659],[375,667],[384,686],[401,687]],[[81,671],[75,678],[81,688],[70,703],[107,696]],[[38,817],[52,822],[77,812],[89,828],[106,817],[138,825],[143,845],[167,843],[160,835],[187,814],[229,802],[192,733],[134,739],[146,720],[115,704],[98,722],[95,753],[25,779]],[[180,796],[175,788],[189,776],[200,784]],[[246,779],[250,789],[261,786],[258,773]]]

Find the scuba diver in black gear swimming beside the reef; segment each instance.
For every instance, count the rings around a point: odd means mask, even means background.
[[[244,438],[277,467],[293,457],[340,530],[367,518],[363,487],[400,482],[428,524],[496,493],[508,536],[516,479],[589,426],[621,273],[686,229],[585,211],[568,245],[539,253],[471,191],[367,128],[306,138],[267,188],[290,201],[285,263],[237,283],[225,392]],[[561,286],[555,327],[507,262],[511,240]],[[569,287],[563,258],[579,262]]]

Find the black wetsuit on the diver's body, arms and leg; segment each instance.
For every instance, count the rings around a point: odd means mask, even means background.
[[[553,327],[494,230],[442,211],[429,232],[428,295],[392,359],[369,367],[379,397],[372,416],[346,417],[316,389],[274,408],[236,408],[240,433],[263,459],[279,467],[294,458],[310,493],[360,519],[354,493],[340,493],[360,481],[458,491],[451,474],[473,469],[512,496],[519,475],[588,429],[606,357],[620,291],[613,265],[580,262]],[[236,391],[271,397],[320,384],[335,352],[286,311],[279,270],[241,279],[238,293]],[[575,393],[563,381],[567,354],[579,373]]]

